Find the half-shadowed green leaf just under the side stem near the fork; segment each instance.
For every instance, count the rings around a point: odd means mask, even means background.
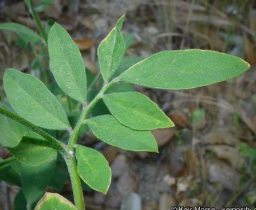
[[[20,144],[14,148],[9,148],[9,151],[18,161],[32,166],[53,161],[57,157],[57,150],[52,148],[47,140],[34,132],[26,133]]]

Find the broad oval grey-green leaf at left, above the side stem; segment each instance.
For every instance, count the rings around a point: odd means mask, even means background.
[[[3,81],[11,106],[21,117],[45,129],[70,127],[62,106],[39,79],[8,69]]]

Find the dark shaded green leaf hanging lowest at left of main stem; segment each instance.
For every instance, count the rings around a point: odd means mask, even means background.
[[[30,166],[22,163],[22,189],[28,204],[32,204],[43,196],[43,192],[53,175],[54,167],[55,160],[39,166]]]

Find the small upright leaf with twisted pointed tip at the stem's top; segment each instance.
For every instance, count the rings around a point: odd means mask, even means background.
[[[123,18],[124,16],[118,20],[117,26],[110,31],[98,46],[98,62],[104,81],[111,79],[125,54],[125,43],[120,31]]]

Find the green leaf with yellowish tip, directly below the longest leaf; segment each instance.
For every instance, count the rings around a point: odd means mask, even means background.
[[[104,95],[103,100],[110,113],[131,129],[153,130],[174,126],[158,105],[141,93],[112,93]]]

